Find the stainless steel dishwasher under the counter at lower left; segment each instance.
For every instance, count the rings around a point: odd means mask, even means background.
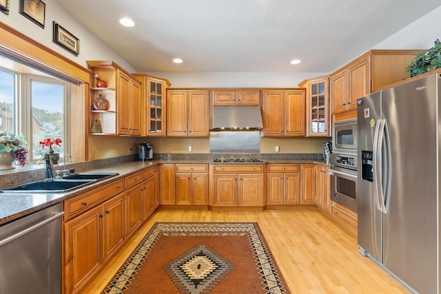
[[[0,294],[61,293],[61,204],[0,227]]]

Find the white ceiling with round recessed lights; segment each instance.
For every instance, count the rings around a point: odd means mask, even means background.
[[[56,0],[138,72],[332,72],[440,0]],[[119,24],[130,17],[133,28]],[[174,58],[183,63],[172,63]],[[291,65],[292,59],[301,59]]]

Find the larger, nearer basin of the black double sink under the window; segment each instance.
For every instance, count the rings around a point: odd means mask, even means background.
[[[1,193],[63,193],[89,185],[95,180],[40,180],[0,190]]]

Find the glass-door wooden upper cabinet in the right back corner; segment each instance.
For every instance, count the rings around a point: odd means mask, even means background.
[[[306,136],[331,136],[329,76],[302,81],[306,89]]]

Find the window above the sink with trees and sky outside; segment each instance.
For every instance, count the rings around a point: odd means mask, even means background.
[[[28,162],[41,160],[45,138],[61,138],[56,153],[67,154],[70,84],[47,74],[36,76],[0,69],[0,132],[23,134],[28,141]]]

